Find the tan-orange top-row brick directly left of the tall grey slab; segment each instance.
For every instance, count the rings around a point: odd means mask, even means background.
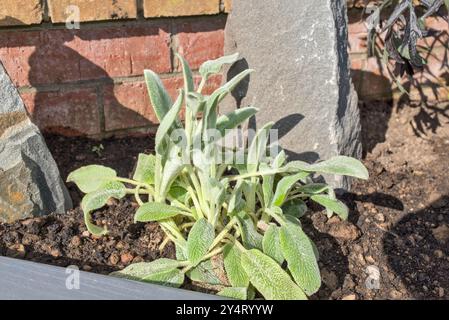
[[[152,17],[180,17],[220,12],[220,0],[144,0],[144,15]]]

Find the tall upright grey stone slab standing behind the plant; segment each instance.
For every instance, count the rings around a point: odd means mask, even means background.
[[[226,54],[239,52],[242,58],[227,78],[248,67],[256,72],[234,90],[222,111],[260,108],[250,126],[275,121],[290,159],[361,156],[346,0],[267,0],[263,5],[235,0],[225,34]],[[341,188],[350,184],[341,177],[327,181]]]

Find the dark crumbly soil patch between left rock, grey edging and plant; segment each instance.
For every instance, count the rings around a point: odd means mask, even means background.
[[[80,208],[0,225],[0,255],[53,264],[76,265],[82,270],[108,274],[133,262],[174,257],[169,244],[159,246],[164,233],[155,223],[133,223],[136,206],[113,201],[93,218],[107,225],[109,234],[94,237],[86,229]]]

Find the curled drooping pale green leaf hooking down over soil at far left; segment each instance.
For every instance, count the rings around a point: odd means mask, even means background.
[[[94,225],[90,213],[106,205],[110,198],[121,199],[126,195],[125,185],[118,181],[106,182],[96,191],[90,192],[83,197],[81,209],[84,213],[84,222],[87,230],[94,235],[104,235],[107,230]]]

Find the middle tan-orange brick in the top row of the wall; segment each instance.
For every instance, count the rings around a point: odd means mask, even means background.
[[[54,23],[73,21],[74,11],[69,6],[79,8],[80,22],[133,19],[137,17],[136,0],[48,0],[51,20]]]

